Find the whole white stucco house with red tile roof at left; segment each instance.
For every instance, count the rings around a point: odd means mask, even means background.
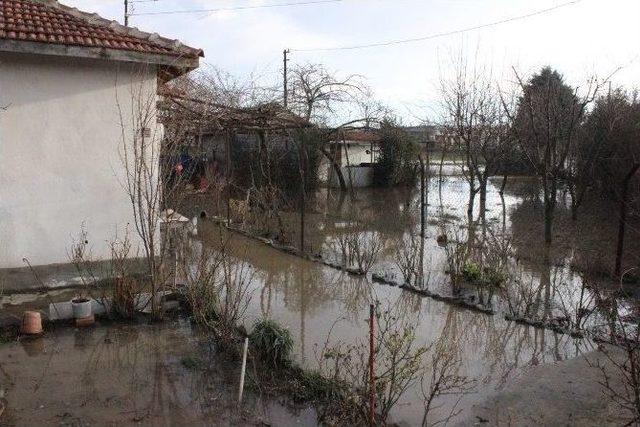
[[[33,285],[23,258],[60,280],[83,225],[94,255],[109,255],[134,222],[120,148],[145,132],[132,128],[136,98],[201,56],[56,1],[0,1],[0,286]]]

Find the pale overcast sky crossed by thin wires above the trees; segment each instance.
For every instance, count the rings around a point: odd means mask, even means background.
[[[157,0],[134,13],[209,9],[305,0]],[[308,0],[307,0],[308,1]],[[280,79],[282,50],[323,48],[428,36],[487,24],[568,0],[342,0],[218,13],[132,16],[130,25],[202,48],[206,64],[242,76]],[[122,0],[62,0],[122,22]],[[366,77],[377,97],[405,122],[437,113],[437,86],[453,54],[478,57],[508,79],[551,65],[574,84],[623,66],[616,84],[640,82],[640,0],[582,0],[527,19],[428,41],[358,50],[292,52],[292,63],[318,62]],[[476,54],[479,52],[479,54]]]

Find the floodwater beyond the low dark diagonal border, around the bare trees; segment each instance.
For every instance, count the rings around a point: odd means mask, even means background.
[[[438,236],[446,233],[449,241],[465,242],[476,250],[481,245],[508,246],[510,270],[514,278],[526,286],[507,286],[502,292],[482,292],[480,288],[464,289],[467,296],[488,308],[502,313],[513,312],[536,320],[576,319],[580,307],[594,306],[594,296],[589,287],[617,289],[619,284],[611,279],[615,258],[617,221],[615,206],[597,199],[583,206],[578,221],[570,218],[568,195],[561,193],[554,226],[554,242],[547,248],[543,241],[543,206],[540,201],[538,181],[531,177],[511,177],[504,194],[499,193],[501,179],[490,180],[487,192],[486,213],[480,215],[479,196],[475,198],[474,211],[469,217],[467,206],[469,186],[464,177],[456,175],[459,167],[445,165],[442,180],[431,176],[428,180],[425,208],[425,238],[422,251],[424,286],[440,294],[453,294],[446,252],[438,243]],[[432,166],[432,169],[436,169]],[[190,203],[190,215],[202,211],[208,214],[216,210],[208,203],[208,196],[199,196]],[[325,259],[341,262],[339,239],[354,229],[367,238],[376,236],[382,241],[372,272],[383,274],[396,282],[403,278],[396,265],[397,252],[403,239],[420,233],[420,195],[418,188],[371,188],[341,193],[320,190],[310,198],[305,214],[305,251],[322,255]],[[217,212],[224,215],[226,211]],[[298,248],[300,217],[294,212],[282,213],[286,244]],[[241,218],[234,218],[240,221]],[[261,218],[262,220],[262,218]],[[471,226],[473,225],[473,226]],[[254,234],[263,233],[246,224]],[[271,223],[273,237],[277,227]],[[630,224],[627,231],[624,266],[629,269],[640,262],[640,226]],[[583,286],[585,289],[583,289]],[[637,286],[627,291],[638,293]],[[536,302],[529,309],[514,309],[514,300],[523,300],[525,291],[535,292]],[[526,296],[527,298],[530,295]],[[526,312],[526,313],[525,313]],[[600,326],[597,316],[591,316],[593,327]]]

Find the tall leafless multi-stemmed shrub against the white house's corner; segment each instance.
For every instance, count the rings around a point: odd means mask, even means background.
[[[158,292],[175,273],[167,268],[171,245],[168,233],[161,232],[163,209],[167,200],[177,203],[184,197],[181,179],[172,183],[171,168],[163,167],[163,159],[178,153],[185,124],[172,123],[174,132],[165,134],[157,114],[158,90],[145,79],[145,70],[132,78],[130,90],[116,90],[116,103],[120,116],[119,154],[123,167],[121,184],[133,213],[133,230],[141,244],[150,284],[150,304],[154,317],[161,316]],[[167,218],[164,218],[165,220]]]

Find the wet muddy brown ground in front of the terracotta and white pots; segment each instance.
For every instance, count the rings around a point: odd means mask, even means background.
[[[61,327],[0,345],[0,425],[315,425],[247,391],[240,367],[188,320]]]

